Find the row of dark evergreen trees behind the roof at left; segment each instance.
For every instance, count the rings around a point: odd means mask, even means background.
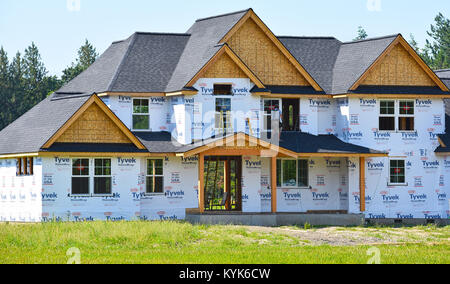
[[[96,49],[86,40],[75,62],[58,78],[48,74],[34,42],[11,60],[0,47],[0,130],[86,70],[97,57]]]

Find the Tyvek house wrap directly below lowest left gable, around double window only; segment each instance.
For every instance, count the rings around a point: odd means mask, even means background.
[[[43,221],[133,220],[140,215],[138,192],[140,160],[111,158],[112,196],[72,196],[72,160],[43,158]],[[93,159],[90,159],[90,188],[93,188]]]

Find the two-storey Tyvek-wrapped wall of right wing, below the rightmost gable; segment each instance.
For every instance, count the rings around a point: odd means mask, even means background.
[[[390,186],[389,158],[366,160],[366,217],[448,218],[447,158],[436,156],[437,134],[445,132],[441,99],[415,100],[416,132],[378,131],[379,100],[354,98],[338,106],[342,140],[388,151],[405,159],[406,186]],[[345,121],[346,120],[346,121]],[[356,172],[358,174],[358,171]],[[359,188],[351,187],[350,212],[359,213]]]

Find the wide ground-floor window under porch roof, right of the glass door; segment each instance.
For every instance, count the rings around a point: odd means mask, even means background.
[[[308,187],[308,160],[277,160],[277,186]]]

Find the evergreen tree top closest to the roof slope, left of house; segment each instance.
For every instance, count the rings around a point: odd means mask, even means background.
[[[97,50],[94,46],[86,39],[86,42],[78,50],[78,58],[75,62],[72,62],[71,66],[63,70],[63,75],[61,80],[63,83],[67,83],[81,72],[86,70],[98,57]]]

